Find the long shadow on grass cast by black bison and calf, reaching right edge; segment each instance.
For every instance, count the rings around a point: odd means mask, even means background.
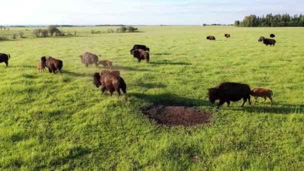
[[[241,108],[231,108],[231,110],[241,110],[247,112],[273,113],[273,114],[289,114],[304,113],[304,105],[299,104],[282,104],[281,106],[251,104]]]

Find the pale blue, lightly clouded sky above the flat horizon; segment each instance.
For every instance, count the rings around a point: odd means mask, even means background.
[[[249,14],[304,14],[304,0],[0,0],[0,6],[0,25],[231,24]]]

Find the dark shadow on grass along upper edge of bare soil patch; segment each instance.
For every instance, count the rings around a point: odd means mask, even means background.
[[[143,99],[153,103],[153,105],[167,105],[167,106],[207,106],[209,103],[205,100],[181,97],[171,93],[162,94],[141,94],[141,93],[129,93],[130,96]]]

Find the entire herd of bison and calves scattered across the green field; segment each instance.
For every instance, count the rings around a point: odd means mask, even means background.
[[[224,36],[226,38],[230,37],[230,34],[225,33]],[[270,37],[275,37],[274,34],[270,34]],[[215,36],[209,35],[206,37],[208,40],[215,40]],[[274,45],[275,40],[271,38],[265,38],[264,36],[260,36],[258,41],[262,41],[265,45]],[[147,63],[149,62],[149,52],[150,49],[142,44],[134,44],[130,49],[130,54],[133,55],[134,58],[137,59],[138,62],[141,60],[145,60]],[[101,55],[98,55],[101,56]],[[81,63],[83,63],[86,67],[90,64],[94,64],[95,67],[98,67],[99,64],[103,65],[103,67],[112,68],[112,62],[109,60],[98,60],[98,56],[91,52],[84,52],[80,55]],[[0,62],[4,62],[6,67],[8,65],[8,59],[10,58],[9,54],[0,53]],[[48,69],[50,73],[61,72],[61,68],[63,66],[63,61],[56,59],[52,56],[42,56],[40,58],[40,62],[37,63],[37,68],[39,72],[42,72]],[[109,91],[110,95],[114,91],[117,92],[118,97],[120,96],[120,89],[123,94],[126,94],[126,83],[123,78],[120,77],[119,70],[102,70],[101,72],[93,73],[93,83],[98,88],[101,86],[101,92],[104,93],[105,90]],[[211,103],[214,103],[215,100],[219,100],[217,107],[221,106],[223,103],[227,103],[228,107],[230,105],[230,101],[238,101],[243,99],[244,105],[246,101],[251,105],[250,95],[254,97],[254,104],[257,102],[258,97],[263,97],[264,101],[268,97],[272,104],[272,90],[265,88],[253,88],[250,89],[249,85],[244,83],[237,82],[223,82],[216,87],[212,87],[208,89],[208,98]],[[264,102],[263,101],[263,102]]]

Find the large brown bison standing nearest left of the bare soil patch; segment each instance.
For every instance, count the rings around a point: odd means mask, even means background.
[[[93,74],[93,78],[93,83],[97,88],[101,85],[102,93],[104,93],[105,90],[108,90],[110,92],[110,95],[112,95],[113,91],[116,91],[119,97],[121,88],[123,94],[126,94],[126,84],[122,77],[116,76],[108,70],[104,70],[99,73],[95,72]]]

